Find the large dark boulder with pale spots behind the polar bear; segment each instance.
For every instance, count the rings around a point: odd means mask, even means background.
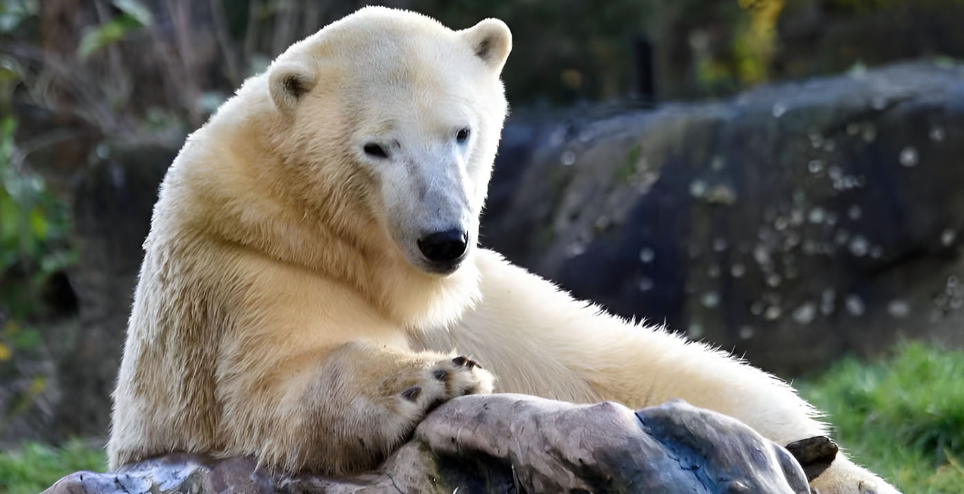
[[[898,334],[964,346],[964,65],[506,126],[482,242],[784,375]]]

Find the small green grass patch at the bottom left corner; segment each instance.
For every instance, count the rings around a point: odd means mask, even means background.
[[[60,447],[26,443],[16,451],[0,453],[0,494],[37,494],[72,472],[106,468],[104,451],[80,441]]]

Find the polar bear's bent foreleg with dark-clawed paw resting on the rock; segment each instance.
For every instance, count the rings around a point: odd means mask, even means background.
[[[228,450],[287,472],[373,469],[432,407],[493,386],[492,375],[469,358],[361,342],[270,367],[283,376],[233,386],[237,400],[228,401],[226,419],[235,444]]]

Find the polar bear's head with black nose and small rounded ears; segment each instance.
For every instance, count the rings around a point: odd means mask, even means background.
[[[455,272],[478,239],[511,44],[496,19],[452,31],[365,8],[290,47],[268,91],[292,193],[361,208],[412,267]]]

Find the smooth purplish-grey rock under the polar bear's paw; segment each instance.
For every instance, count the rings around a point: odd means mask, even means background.
[[[285,477],[251,458],[174,454],[116,474],[78,472],[46,494],[268,492],[809,493],[787,450],[730,417],[676,401],[633,412],[522,395],[468,396],[432,412],[377,471]]]

